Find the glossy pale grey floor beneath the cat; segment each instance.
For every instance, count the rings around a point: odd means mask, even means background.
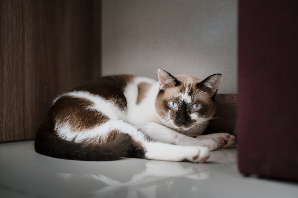
[[[72,161],[35,153],[33,141],[0,144],[0,197],[298,197],[297,183],[246,178],[236,149],[208,163],[142,159]]]

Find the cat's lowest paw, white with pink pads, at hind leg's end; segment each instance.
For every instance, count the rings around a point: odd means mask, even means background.
[[[192,149],[192,152],[188,154],[185,161],[201,163],[206,161],[210,156],[210,152],[207,147],[199,146],[199,147],[191,147],[191,149]]]

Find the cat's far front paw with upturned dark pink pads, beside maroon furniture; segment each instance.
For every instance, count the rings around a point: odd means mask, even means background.
[[[236,147],[236,138],[234,135],[228,133],[213,133],[208,135],[200,135],[195,139],[206,140],[211,139],[216,142],[218,148],[235,148]]]

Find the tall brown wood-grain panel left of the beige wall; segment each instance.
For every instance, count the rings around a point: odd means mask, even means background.
[[[100,1],[0,1],[0,141],[30,139],[62,91],[100,76]]]

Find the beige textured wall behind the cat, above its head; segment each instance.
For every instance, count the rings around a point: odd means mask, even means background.
[[[236,0],[102,2],[103,75],[222,73],[219,93],[237,93]]]

